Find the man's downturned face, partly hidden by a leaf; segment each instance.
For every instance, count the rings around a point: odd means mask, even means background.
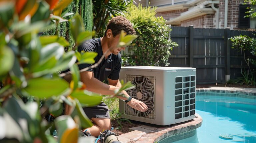
[[[121,50],[125,50],[125,47],[117,47],[119,42],[120,34],[113,37],[113,35],[110,37],[110,44],[109,44],[109,50],[111,53],[117,55]]]

